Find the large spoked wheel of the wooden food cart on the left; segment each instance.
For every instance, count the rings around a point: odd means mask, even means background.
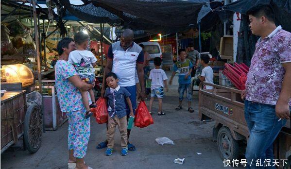
[[[24,141],[26,149],[37,152],[42,141],[43,117],[37,104],[31,104],[24,118]]]

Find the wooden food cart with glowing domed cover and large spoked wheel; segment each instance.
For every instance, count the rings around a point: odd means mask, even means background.
[[[34,91],[34,75],[22,64],[1,66],[1,153],[23,138],[34,153],[43,133],[41,95]]]

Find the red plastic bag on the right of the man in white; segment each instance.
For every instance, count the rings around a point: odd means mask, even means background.
[[[154,119],[150,114],[144,101],[140,101],[137,107],[135,126],[143,128],[154,124]]]

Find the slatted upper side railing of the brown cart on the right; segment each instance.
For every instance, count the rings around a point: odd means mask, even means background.
[[[212,89],[203,89],[203,85],[212,86]],[[218,95],[217,94],[218,93],[218,89],[223,89],[223,90],[226,90],[228,92],[231,92],[230,99]],[[199,92],[207,93],[207,94],[212,95],[213,97],[215,97],[217,99],[221,99],[223,101],[231,101],[234,104],[239,105],[239,106],[244,106],[244,103],[242,103],[242,102],[237,100],[237,94],[241,94],[241,90],[238,90],[238,89],[235,89],[235,88],[230,88],[230,87],[225,87],[225,86],[222,86],[222,85],[201,82],[199,84]]]

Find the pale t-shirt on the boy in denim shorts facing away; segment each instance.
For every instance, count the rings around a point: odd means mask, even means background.
[[[152,79],[151,90],[155,88],[164,87],[164,80],[167,80],[168,77],[163,69],[152,69],[150,71],[149,79]]]

